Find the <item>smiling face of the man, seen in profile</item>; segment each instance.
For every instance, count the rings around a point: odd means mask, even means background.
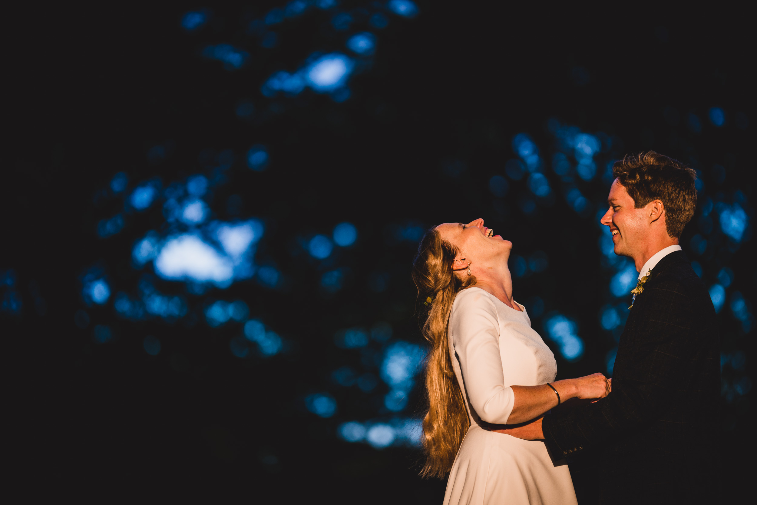
[[[643,242],[649,232],[649,213],[646,207],[637,209],[634,199],[618,183],[618,179],[610,186],[607,204],[609,209],[600,223],[610,227],[615,254],[634,257],[643,249]]]

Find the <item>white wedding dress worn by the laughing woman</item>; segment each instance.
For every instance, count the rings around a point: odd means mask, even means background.
[[[481,288],[460,291],[450,314],[450,356],[471,427],[447,481],[444,505],[577,505],[565,460],[543,441],[484,429],[506,424],[511,385],[541,385],[557,375],[555,357],[531,329],[525,308],[508,307]]]

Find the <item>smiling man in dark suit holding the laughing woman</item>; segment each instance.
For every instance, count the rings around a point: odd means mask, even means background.
[[[573,459],[583,503],[717,503],[718,326],[678,245],[696,207],[696,173],[648,152],[618,161],[613,175],[602,223],[639,281],[612,393],[503,432],[544,439],[556,459]]]

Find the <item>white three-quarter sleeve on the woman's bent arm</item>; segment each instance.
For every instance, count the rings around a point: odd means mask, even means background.
[[[482,421],[506,424],[515,393],[504,384],[497,308],[478,289],[457,296],[450,314],[450,336],[468,400]]]

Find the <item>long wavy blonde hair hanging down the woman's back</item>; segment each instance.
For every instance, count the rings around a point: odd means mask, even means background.
[[[447,327],[457,293],[474,285],[475,277],[458,276],[452,270],[457,252],[455,246],[431,228],[421,239],[413,260],[413,282],[422,308],[422,332],[431,344],[425,375],[428,413],[423,419],[422,437],[426,460],[420,474],[440,479],[452,469],[470,426],[463,391],[452,368]]]

